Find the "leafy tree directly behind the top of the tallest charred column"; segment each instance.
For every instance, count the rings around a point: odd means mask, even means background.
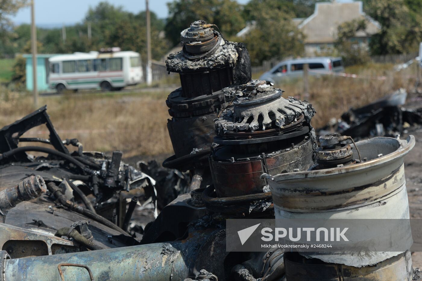
[[[199,19],[216,24],[225,37],[245,27],[243,6],[235,0],[177,0],[167,5],[169,17],[165,33],[173,46],[180,43],[180,32]]]

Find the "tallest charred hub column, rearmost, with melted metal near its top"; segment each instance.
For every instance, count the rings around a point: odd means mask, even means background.
[[[172,168],[176,168],[175,159],[190,154],[193,149],[209,148],[214,138],[216,113],[233,100],[232,91],[223,89],[251,79],[246,47],[226,41],[212,26],[215,25],[205,21],[192,22],[181,32],[182,51],[166,60],[167,70],[179,73],[181,81],[181,88],[170,93],[166,101],[173,117],[167,127],[175,156],[163,165],[173,161]],[[191,162],[193,167],[198,166],[198,161]],[[208,165],[207,161],[201,163]]]

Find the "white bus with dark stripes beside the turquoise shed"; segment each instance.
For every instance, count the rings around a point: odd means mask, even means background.
[[[57,55],[49,58],[49,86],[65,89],[120,90],[142,81],[141,57],[134,51],[109,51]]]

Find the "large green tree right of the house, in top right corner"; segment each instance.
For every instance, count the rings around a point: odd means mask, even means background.
[[[370,42],[372,54],[416,51],[422,41],[421,0],[365,0],[365,11],[381,24]]]

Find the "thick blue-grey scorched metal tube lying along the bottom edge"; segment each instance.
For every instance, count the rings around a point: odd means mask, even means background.
[[[197,245],[208,235],[195,232],[189,241],[7,259],[3,274],[8,281],[63,280],[57,267],[66,262],[78,266],[63,265],[64,280],[89,280],[89,271],[94,280],[184,280],[195,262]]]

